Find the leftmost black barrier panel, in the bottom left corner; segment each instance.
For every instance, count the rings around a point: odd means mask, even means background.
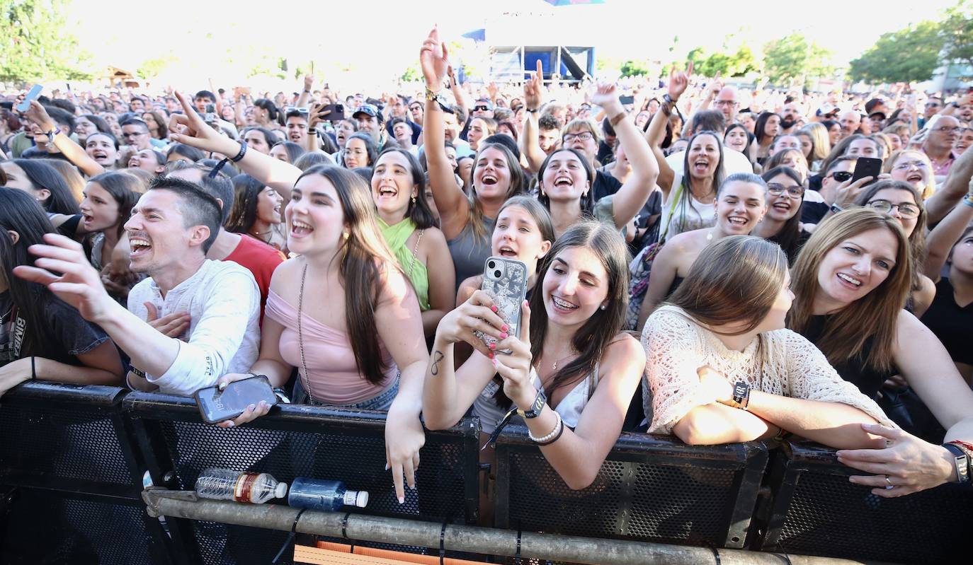
[[[172,563],[145,514],[125,390],[34,382],[0,409],[4,563]]]

